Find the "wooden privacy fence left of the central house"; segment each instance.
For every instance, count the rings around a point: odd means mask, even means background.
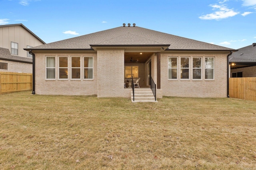
[[[32,90],[31,73],[0,72],[0,94]]]

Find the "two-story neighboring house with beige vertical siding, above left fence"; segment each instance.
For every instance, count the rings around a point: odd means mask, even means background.
[[[0,25],[0,72],[32,73],[32,55],[24,48],[42,44],[23,24]]]

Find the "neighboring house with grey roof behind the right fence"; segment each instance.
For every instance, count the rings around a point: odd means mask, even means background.
[[[230,77],[256,77],[256,43],[229,56]]]

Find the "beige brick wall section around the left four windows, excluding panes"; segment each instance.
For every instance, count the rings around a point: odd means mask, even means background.
[[[40,53],[35,52],[35,93],[39,95],[96,95],[97,94],[97,55],[95,52],[52,52],[52,53]],[[46,80],[46,56],[55,57],[55,67],[56,67],[56,79]],[[58,80],[58,56],[68,57],[68,80]],[[70,79],[70,61],[72,56],[81,57],[81,70],[80,80]],[[84,80],[84,70],[83,70],[83,57],[92,56],[93,57],[93,80]]]

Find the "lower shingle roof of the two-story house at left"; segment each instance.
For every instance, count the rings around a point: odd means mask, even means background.
[[[32,58],[18,57],[11,55],[9,49],[0,47],[0,59],[8,61],[16,61],[21,63],[32,63]]]

